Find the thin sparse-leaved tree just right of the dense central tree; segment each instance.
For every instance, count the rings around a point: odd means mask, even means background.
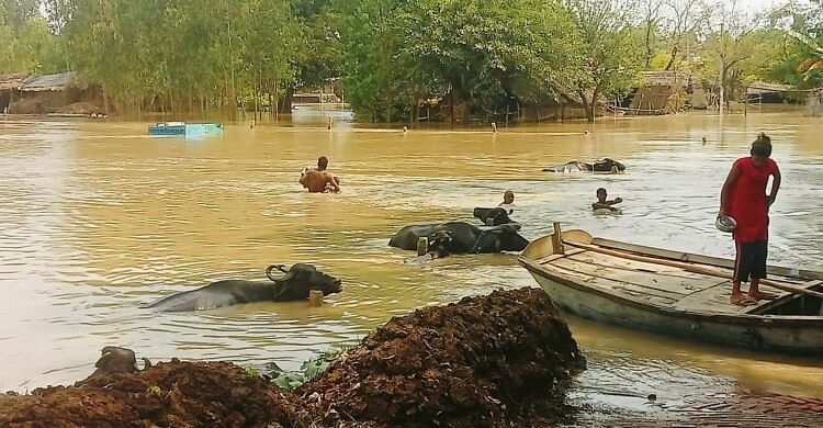
[[[640,34],[632,24],[631,0],[564,0],[574,23],[576,53],[565,83],[578,98],[589,122],[602,95],[630,88],[643,64]]]

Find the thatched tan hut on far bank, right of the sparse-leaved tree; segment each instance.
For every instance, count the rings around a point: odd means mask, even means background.
[[[625,112],[629,114],[668,114],[685,108],[706,109],[706,92],[688,71],[644,71],[642,85],[634,91]]]

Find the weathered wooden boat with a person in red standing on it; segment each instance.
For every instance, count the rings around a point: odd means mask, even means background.
[[[733,260],[561,232],[559,224],[554,234],[532,241],[519,262],[556,305],[585,318],[753,350],[823,356],[823,272],[770,266],[760,289],[777,299],[737,306],[729,302]]]

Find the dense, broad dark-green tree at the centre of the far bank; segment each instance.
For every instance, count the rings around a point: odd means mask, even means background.
[[[494,114],[497,102],[552,93],[568,20],[535,0],[342,1],[349,100],[371,119],[414,120],[424,99],[449,117]]]

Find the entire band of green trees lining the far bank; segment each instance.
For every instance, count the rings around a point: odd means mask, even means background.
[[[598,105],[640,71],[690,70],[735,98],[823,82],[823,5],[763,19],[740,0],[0,0],[0,72],[78,71],[114,112],[290,111],[340,78],[360,117],[466,123]],[[41,15],[41,10],[47,16]],[[427,110],[428,111],[428,110]]]

